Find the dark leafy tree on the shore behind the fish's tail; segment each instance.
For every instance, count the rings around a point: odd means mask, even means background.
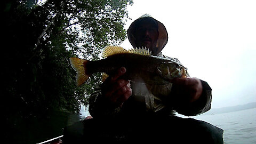
[[[77,87],[68,59],[97,60],[103,47],[124,41],[126,6],[132,0],[1,3],[6,122],[12,127],[17,117],[44,117],[52,110],[78,112],[101,75]]]

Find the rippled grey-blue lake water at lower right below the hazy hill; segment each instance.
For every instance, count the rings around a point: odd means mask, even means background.
[[[256,143],[256,108],[192,118],[211,123],[224,130],[223,140],[226,144]]]

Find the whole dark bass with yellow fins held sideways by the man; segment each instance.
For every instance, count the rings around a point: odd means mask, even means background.
[[[95,61],[69,58],[76,71],[77,86],[84,84],[94,73],[112,75],[121,67],[126,68],[123,79],[150,85],[164,85],[173,78],[187,77],[187,68],[181,63],[151,55],[146,47],[126,50],[121,46],[106,46],[102,57]]]

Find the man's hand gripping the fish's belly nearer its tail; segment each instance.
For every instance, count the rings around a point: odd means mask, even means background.
[[[102,96],[116,106],[122,106],[131,95],[130,81],[119,78],[125,74],[125,67],[119,68],[115,74],[109,76],[102,84]]]

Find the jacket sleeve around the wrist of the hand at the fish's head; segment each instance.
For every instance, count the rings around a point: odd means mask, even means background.
[[[212,89],[205,81],[201,80],[201,83],[203,86],[201,97],[195,102],[174,106],[175,111],[185,116],[195,116],[211,109]]]

